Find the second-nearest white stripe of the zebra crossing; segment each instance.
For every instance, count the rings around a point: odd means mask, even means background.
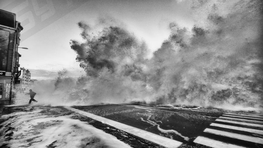
[[[244,140],[244,141],[250,141],[250,142],[254,142],[254,143],[263,144],[263,139],[259,138],[259,137],[252,137],[252,136],[241,135],[241,134],[236,134],[236,133],[232,133],[232,132],[219,131],[216,129],[205,129],[204,132],[208,132],[208,133],[216,134],[216,135],[220,135],[220,136],[226,136],[226,137],[230,137],[230,138],[235,138],[235,139],[240,139],[240,140]]]

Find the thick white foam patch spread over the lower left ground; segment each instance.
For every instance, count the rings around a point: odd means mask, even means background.
[[[63,112],[60,109],[31,107],[0,117],[0,147],[130,147],[86,122],[70,119],[70,115],[57,117]]]

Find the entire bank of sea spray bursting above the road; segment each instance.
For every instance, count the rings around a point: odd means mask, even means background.
[[[169,38],[150,59],[144,41],[123,25],[111,19],[95,26],[79,22],[83,42],[70,44],[86,75],[72,79],[61,72],[54,93],[79,105],[262,108],[262,2],[196,0],[191,11],[195,26],[170,23]]]

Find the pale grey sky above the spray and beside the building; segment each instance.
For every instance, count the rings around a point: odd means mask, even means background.
[[[58,2],[67,4],[61,5]],[[52,11],[46,10],[50,8],[53,8]],[[76,54],[69,44],[71,39],[82,40],[79,35],[81,30],[77,26],[79,21],[94,25],[99,17],[115,19],[144,40],[151,52],[157,50],[168,38],[169,23],[176,22],[179,26],[188,28],[194,24],[190,3],[183,0],[1,0],[0,9],[16,13],[16,20],[24,27],[19,47],[27,47],[29,50],[19,49],[22,55],[19,64],[31,71],[32,79],[38,80],[52,79],[64,68],[72,76],[84,73],[75,61]],[[42,15],[45,13],[56,17],[51,19],[47,16],[46,19]],[[25,16],[29,17],[31,14],[35,18],[33,25],[38,25],[37,19],[49,19],[49,23],[42,28],[35,27],[36,33],[25,38],[23,33],[32,28],[32,21],[25,19]]]

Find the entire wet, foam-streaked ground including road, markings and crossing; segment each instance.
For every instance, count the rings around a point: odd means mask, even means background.
[[[263,146],[263,116],[253,112],[142,104],[51,107],[34,103],[2,105],[0,115],[1,148]]]

